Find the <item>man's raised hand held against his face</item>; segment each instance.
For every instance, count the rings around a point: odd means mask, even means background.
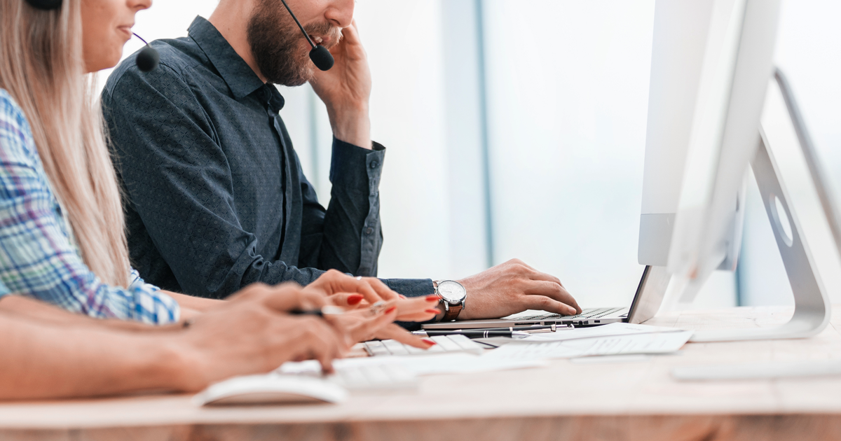
[[[336,60],[330,71],[315,71],[309,84],[327,106],[330,125],[336,139],[372,149],[371,119],[368,98],[371,97],[371,70],[368,55],[362,47],[357,23],[342,29],[343,38],[330,52]]]

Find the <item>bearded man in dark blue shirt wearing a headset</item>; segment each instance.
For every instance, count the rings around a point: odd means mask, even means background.
[[[108,78],[103,112],[126,195],[131,259],[145,281],[223,298],[257,281],[306,285],[328,269],[376,276],[385,148],[370,137],[371,76],[354,1],[288,5],[331,50],[330,71],[314,69],[279,0],[221,0],[188,37],[151,44],[161,54],[155,71],[140,72],[129,57]],[[273,86],[306,81],[325,102],[334,134],[327,209],[304,177]],[[436,291],[430,279],[385,282],[410,297]],[[452,309],[459,319],[580,311],[556,277],[519,260],[460,283],[467,298],[463,310]]]

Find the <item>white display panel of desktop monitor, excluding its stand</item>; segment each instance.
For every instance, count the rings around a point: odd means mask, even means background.
[[[693,300],[735,269],[779,0],[657,0],[637,258]]]

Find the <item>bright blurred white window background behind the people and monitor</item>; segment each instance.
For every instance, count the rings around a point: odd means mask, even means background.
[[[214,6],[157,0],[138,14],[135,32],[184,36]],[[373,139],[388,148],[379,276],[461,278],[516,257],[558,276],[587,307],[630,302],[643,269],[637,235],[653,13],[653,0],[358,0]],[[841,197],[839,16],[837,0],[784,0],[776,63]],[[124,55],[141,45],[130,41]],[[324,105],[309,86],[280,91],[281,115],[326,206]],[[754,187],[739,270],[717,272],[696,307],[791,303]],[[803,223],[819,220],[806,213]],[[830,243],[809,245],[816,255],[834,253]],[[838,302],[836,285],[828,283]]]

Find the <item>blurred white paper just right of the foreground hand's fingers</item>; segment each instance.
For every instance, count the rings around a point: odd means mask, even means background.
[[[336,371],[348,367],[365,365],[382,365],[387,363],[399,363],[406,370],[414,372],[415,375],[433,374],[463,374],[473,372],[489,372],[493,370],[511,370],[538,367],[546,365],[545,361],[517,360],[517,359],[487,359],[479,355],[466,353],[453,354],[431,354],[431,355],[407,355],[407,356],[380,356],[380,357],[359,357],[342,359],[333,362]],[[276,372],[280,374],[318,374],[321,372],[321,365],[315,360],[283,363]]]

